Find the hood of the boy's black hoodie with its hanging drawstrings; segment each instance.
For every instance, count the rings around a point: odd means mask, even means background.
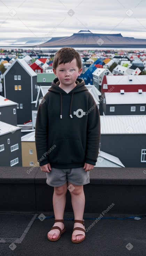
[[[69,110],[69,115],[70,118],[72,118],[71,114],[71,108],[72,108],[72,101],[73,101],[73,96],[74,93],[79,93],[82,91],[88,91],[87,87],[85,86],[85,82],[82,78],[77,78],[76,84],[77,86],[72,89],[69,93],[65,92],[59,87],[59,79],[56,77],[51,85],[51,88],[48,90],[49,92],[55,92],[55,93],[60,93],[60,119],[62,119],[62,95],[71,95],[71,100],[70,100],[70,110]]]

